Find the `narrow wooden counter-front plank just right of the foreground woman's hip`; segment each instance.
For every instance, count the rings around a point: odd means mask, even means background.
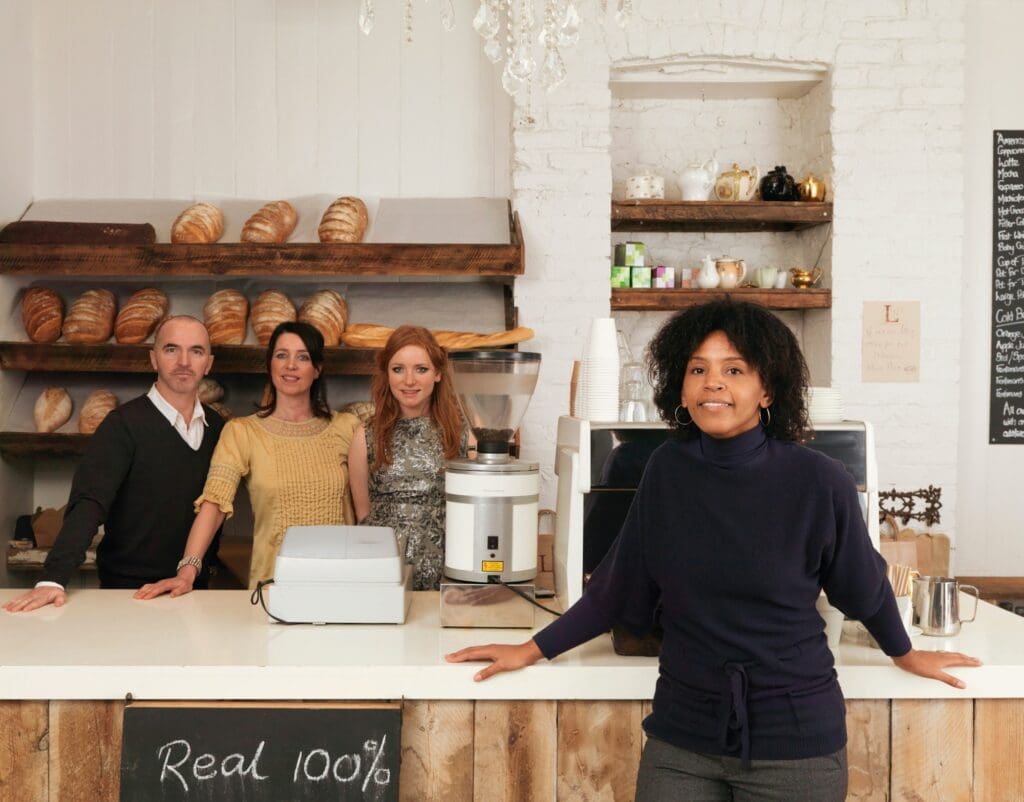
[[[846,703],[847,760],[850,786],[847,800],[889,800],[888,700],[852,700]]]

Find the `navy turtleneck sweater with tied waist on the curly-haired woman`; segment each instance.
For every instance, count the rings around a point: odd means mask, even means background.
[[[843,465],[760,426],[701,434],[651,455],[583,598],[535,640],[554,658],[616,622],[645,631],[660,607],[648,733],[744,763],[817,757],[846,744],[822,588],[887,655],[910,649]]]

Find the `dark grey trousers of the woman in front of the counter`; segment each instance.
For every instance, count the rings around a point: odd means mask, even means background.
[[[801,760],[698,755],[648,737],[640,759],[636,802],[844,802],[846,749]]]

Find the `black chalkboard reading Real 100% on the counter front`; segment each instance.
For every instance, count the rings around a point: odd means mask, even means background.
[[[125,708],[121,800],[398,799],[401,708]]]

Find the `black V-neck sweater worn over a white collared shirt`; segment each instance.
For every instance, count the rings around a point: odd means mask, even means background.
[[[207,428],[194,451],[145,395],[111,412],[96,429],[75,478],[63,525],[43,579],[67,585],[100,524],[104,576],[141,585],[173,577],[224,422],[205,408]],[[205,567],[205,566],[204,566]]]

